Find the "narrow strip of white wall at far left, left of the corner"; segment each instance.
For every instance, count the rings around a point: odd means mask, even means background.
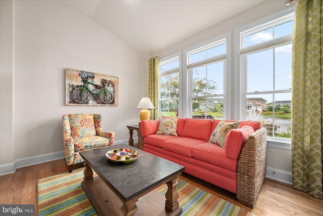
[[[0,1],[0,164],[13,161],[14,4]]]

